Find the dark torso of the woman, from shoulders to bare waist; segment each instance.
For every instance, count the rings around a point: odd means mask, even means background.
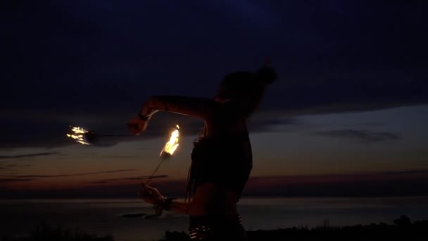
[[[191,216],[237,216],[236,204],[252,168],[246,119],[218,114],[206,121],[191,154],[196,192]]]

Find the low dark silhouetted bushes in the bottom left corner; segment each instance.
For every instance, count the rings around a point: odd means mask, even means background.
[[[22,237],[0,237],[2,241],[113,241],[113,236],[98,237],[96,234],[82,233],[61,226],[37,225],[28,235]]]

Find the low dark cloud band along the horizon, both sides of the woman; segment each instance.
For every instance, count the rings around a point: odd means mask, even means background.
[[[162,176],[162,175],[160,175]],[[0,197],[135,197],[141,185],[136,183],[93,183],[92,186],[51,190],[13,190],[0,187]],[[6,180],[6,179],[5,179]],[[133,181],[133,180],[131,180]],[[1,179],[0,179],[1,183]],[[101,185],[97,185],[101,184]],[[153,185],[170,197],[184,197],[185,180],[153,180]],[[280,197],[382,197],[427,195],[428,171],[394,171],[328,175],[289,175],[251,177],[244,197],[258,195]]]

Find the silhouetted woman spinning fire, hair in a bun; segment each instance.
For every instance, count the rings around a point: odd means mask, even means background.
[[[204,122],[194,142],[185,202],[163,197],[143,184],[141,197],[157,211],[189,215],[190,240],[246,240],[237,212],[252,168],[251,143],[246,121],[260,103],[267,85],[277,79],[268,63],[256,72],[229,73],[214,99],[153,96],[146,101],[128,128],[139,135],[157,111],[194,116]]]

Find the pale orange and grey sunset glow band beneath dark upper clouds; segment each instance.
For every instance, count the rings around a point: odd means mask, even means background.
[[[411,118],[394,118],[404,113]],[[298,124],[278,125],[267,132],[251,132],[254,149],[251,178],[266,181],[263,185],[250,182],[248,190],[269,188],[279,180],[287,180],[289,185],[304,184],[304,180],[321,180],[323,176],[329,181],[346,180],[347,177],[358,180],[355,175],[364,175],[360,178],[369,177],[370,180],[379,179],[375,175],[389,180],[410,180],[415,176],[427,178],[426,152],[420,140],[428,133],[417,131],[418,126],[427,120],[427,113],[427,106],[415,106],[298,116]],[[342,135],[326,132],[332,126],[334,130],[367,130],[367,136],[361,134],[363,131],[359,135],[352,135],[350,131],[339,132]],[[153,180],[153,185],[182,183],[174,184],[177,192],[180,191],[187,178],[189,154],[195,137],[182,137],[180,152],[175,154],[173,161],[160,168],[157,173],[160,176]],[[137,186],[151,173],[158,160],[156,148],[141,147],[156,147],[161,142],[161,138],[153,138],[118,142],[112,147],[71,144],[2,150],[0,163],[7,168],[1,171],[0,187],[8,190],[84,190],[89,187]],[[411,172],[401,173],[405,171]],[[417,171],[422,173],[418,175]],[[382,174],[388,172],[399,172],[399,175]]]

